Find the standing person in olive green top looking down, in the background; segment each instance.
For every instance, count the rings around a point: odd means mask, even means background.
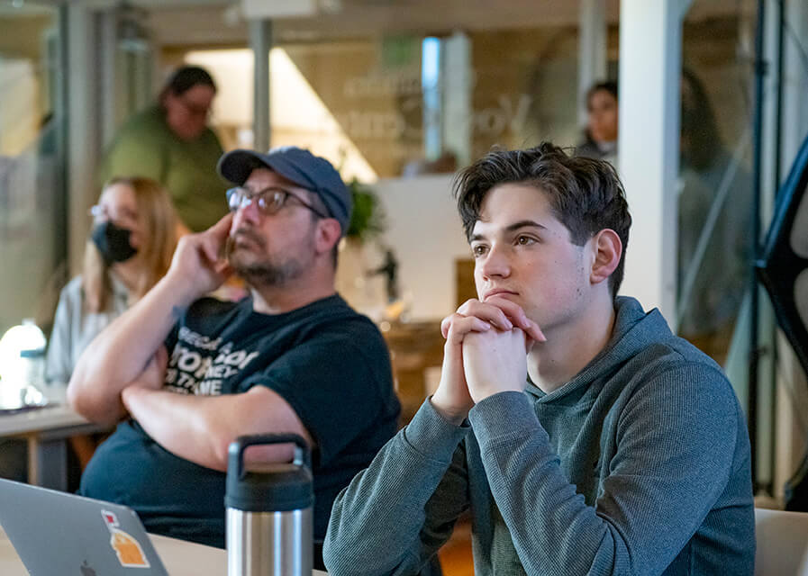
[[[165,186],[182,224],[209,228],[227,213],[215,166],[222,145],[208,125],[216,85],[204,68],[184,66],[158,102],[123,124],[106,150],[99,180],[146,176]]]

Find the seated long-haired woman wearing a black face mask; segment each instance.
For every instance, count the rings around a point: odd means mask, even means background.
[[[90,211],[83,270],[62,289],[50,334],[45,376],[54,383],[68,383],[78,356],[157,284],[177,247],[177,216],[150,178],[113,178]],[[95,442],[75,437],[71,446],[83,469]]]

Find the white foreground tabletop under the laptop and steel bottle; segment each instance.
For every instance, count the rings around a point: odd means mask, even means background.
[[[171,576],[226,576],[227,553],[221,548],[212,548],[165,536],[150,535],[151,542]],[[3,576],[27,576],[23,561],[14,552],[14,546],[0,528],[0,574]],[[328,576],[315,570],[312,576]]]

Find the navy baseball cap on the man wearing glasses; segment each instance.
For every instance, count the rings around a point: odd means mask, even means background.
[[[331,162],[296,146],[272,148],[266,154],[238,149],[219,159],[216,170],[226,180],[243,185],[256,168],[269,168],[298,186],[317,193],[331,218],[340,222],[342,236],[348,231],[352,200],[350,190]]]

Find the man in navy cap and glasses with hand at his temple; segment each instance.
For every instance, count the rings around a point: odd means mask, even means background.
[[[79,413],[123,420],[80,493],[131,506],[152,533],[223,547],[228,446],[294,433],[313,448],[316,544],[337,492],[395,434],[400,412],[381,333],[334,288],[350,191],[302,148],[233,150],[219,171],[235,186],[232,214],[182,238],[168,274],[73,373]],[[204,298],[233,272],[250,297]]]

